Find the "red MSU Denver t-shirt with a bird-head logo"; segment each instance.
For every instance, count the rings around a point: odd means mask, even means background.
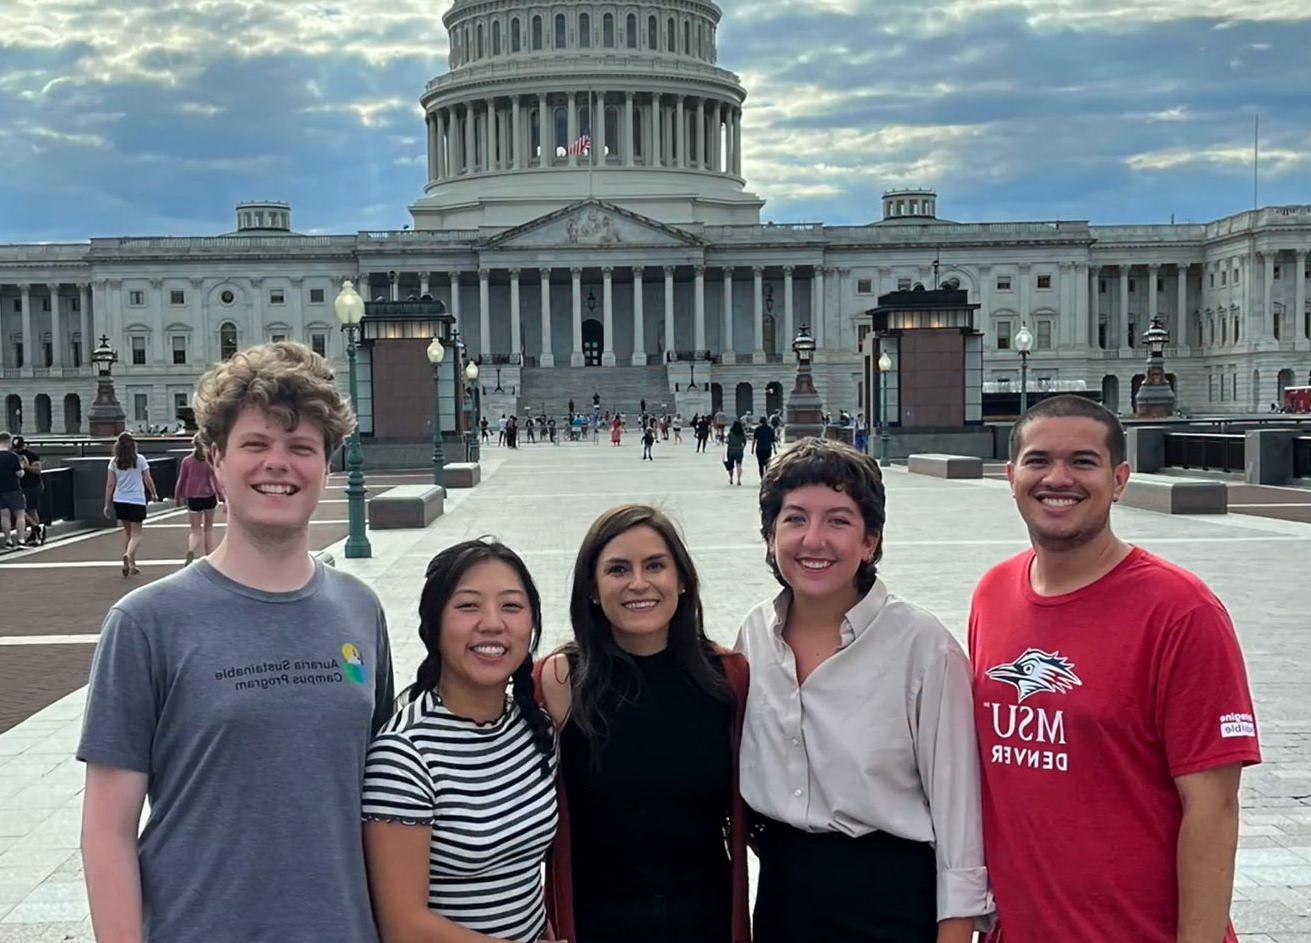
[[[970,606],[991,939],[1175,943],[1173,778],[1261,761],[1234,624],[1145,550],[1055,597],[1033,592],[1033,556]]]

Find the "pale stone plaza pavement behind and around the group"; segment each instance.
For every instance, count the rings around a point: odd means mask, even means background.
[[[343,560],[336,544],[338,565],[383,598],[397,686],[421,657],[414,609],[434,552],[480,534],[520,551],[541,590],[549,648],[568,635],[570,568],[583,531],[624,501],[656,502],[682,525],[703,581],[707,628],[730,643],[745,611],[776,590],[763,563],[754,470],[738,488],[725,483],[720,456],[695,455],[691,441],[657,445],[656,462],[638,454],[632,438],[617,449],[489,449],[482,484],[452,492],[446,515],[426,530],[371,534],[370,560]],[[882,576],[964,639],[974,582],[1027,546],[1006,484],[891,468],[888,493]],[[1311,943],[1311,679],[1303,672],[1311,607],[1301,582],[1311,525],[1121,508],[1114,522],[1121,536],[1197,572],[1234,614],[1265,753],[1243,780],[1234,919],[1244,943]],[[0,658],[7,651],[0,647]],[[83,703],[84,691],[73,691],[0,733],[0,943],[92,939],[77,853],[83,770],[72,758]]]

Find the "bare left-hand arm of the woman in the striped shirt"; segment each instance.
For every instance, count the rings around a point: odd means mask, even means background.
[[[427,909],[430,825],[364,822],[364,859],[383,943],[489,943]]]

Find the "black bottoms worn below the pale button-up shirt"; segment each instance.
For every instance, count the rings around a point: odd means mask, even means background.
[[[810,833],[763,820],[755,943],[933,943],[933,846],[873,832]]]

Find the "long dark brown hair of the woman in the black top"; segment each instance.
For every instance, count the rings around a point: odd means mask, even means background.
[[[633,664],[615,641],[610,620],[597,599],[597,563],[602,552],[620,534],[633,527],[650,527],[665,539],[674,557],[683,593],[669,623],[669,651],[687,679],[717,700],[730,703],[733,691],[713,661],[713,649],[705,637],[701,614],[700,584],[692,556],[669,517],[650,505],[625,504],[611,508],[593,521],[574,560],[573,593],[569,597],[569,620],[574,639],[565,645],[570,662],[569,716],[591,745],[593,762],[597,746],[606,737],[606,719],[600,704],[616,685],[616,666]]]

